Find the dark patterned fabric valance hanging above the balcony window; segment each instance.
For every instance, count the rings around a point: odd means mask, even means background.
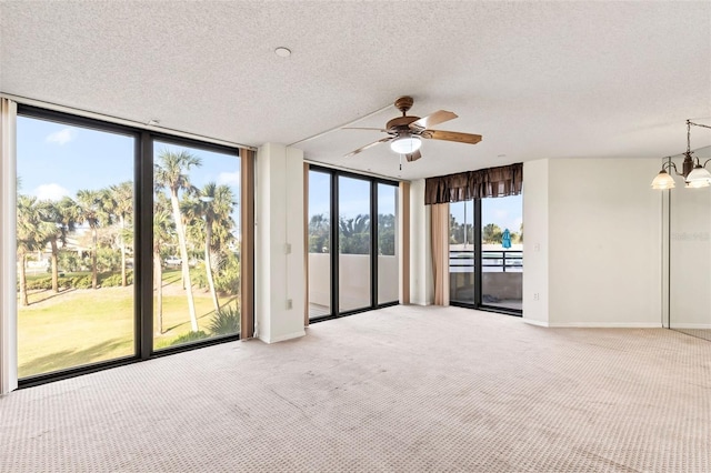
[[[440,175],[424,181],[424,203],[518,195],[522,185],[523,163]]]

